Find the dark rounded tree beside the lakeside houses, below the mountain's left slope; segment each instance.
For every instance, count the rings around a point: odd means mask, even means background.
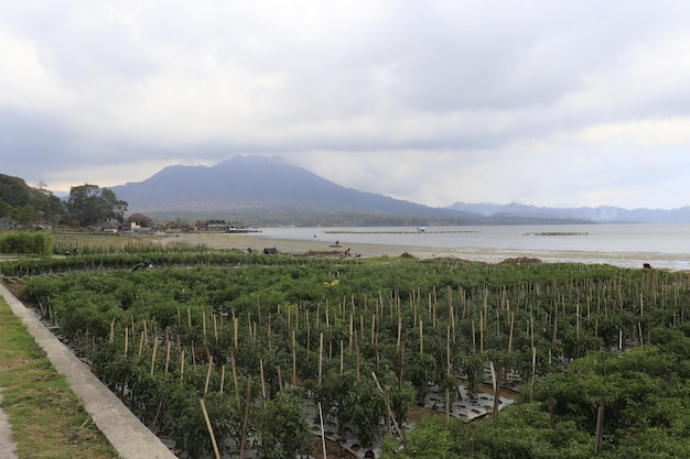
[[[72,187],[67,200],[67,210],[82,227],[112,219],[121,222],[127,206],[127,201],[119,200],[112,190],[89,184]]]

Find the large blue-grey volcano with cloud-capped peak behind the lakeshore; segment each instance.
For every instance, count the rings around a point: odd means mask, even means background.
[[[110,189],[129,204],[128,212],[151,216],[397,215],[421,218],[420,225],[483,220],[461,210],[347,188],[267,156],[234,156],[212,167],[170,166],[143,182]]]

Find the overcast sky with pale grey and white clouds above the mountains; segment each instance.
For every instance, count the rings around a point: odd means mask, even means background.
[[[0,0],[0,173],[271,154],[427,204],[690,205],[684,0]]]

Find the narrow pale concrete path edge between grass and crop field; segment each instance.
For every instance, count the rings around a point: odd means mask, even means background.
[[[20,317],[36,343],[45,351],[58,373],[67,379],[74,393],[82,398],[84,407],[100,431],[118,450],[122,459],[176,459],[176,456],[127,406],[91,373],[82,362],[41,323],[39,316],[25,307],[0,283],[0,295]]]

